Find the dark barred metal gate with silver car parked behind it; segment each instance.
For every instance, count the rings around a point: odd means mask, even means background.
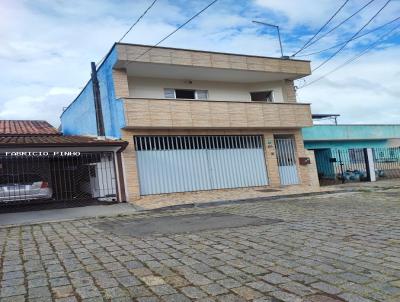
[[[0,205],[116,197],[113,152],[7,152],[0,156]]]

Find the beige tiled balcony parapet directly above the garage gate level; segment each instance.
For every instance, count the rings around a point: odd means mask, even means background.
[[[265,129],[312,126],[309,104],[124,98],[129,129]]]

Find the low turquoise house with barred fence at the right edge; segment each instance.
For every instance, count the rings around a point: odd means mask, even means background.
[[[320,179],[362,180],[365,149],[371,149],[377,176],[400,176],[400,125],[314,125],[302,133],[305,147],[315,153]]]

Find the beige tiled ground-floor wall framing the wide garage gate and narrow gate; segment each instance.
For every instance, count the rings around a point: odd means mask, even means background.
[[[122,139],[129,142],[128,147],[123,152],[125,185],[127,198],[134,201],[140,198],[139,176],[136,166],[136,154],[133,137],[136,135],[263,135],[264,138],[264,154],[267,166],[267,175],[269,186],[271,188],[281,187],[278,162],[275,152],[274,135],[291,134],[296,141],[296,153],[298,157],[310,157],[310,165],[299,165],[297,161],[298,176],[300,184],[309,188],[317,188],[319,186],[317,172],[313,153],[305,150],[301,132],[299,129],[292,130],[123,130]]]

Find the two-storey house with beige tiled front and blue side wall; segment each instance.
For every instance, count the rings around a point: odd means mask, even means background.
[[[129,142],[128,199],[315,185],[301,135],[310,105],[297,103],[293,85],[309,74],[309,61],[115,44],[97,69],[100,116],[107,137]],[[90,80],[62,113],[62,131],[98,135],[98,122]]]

